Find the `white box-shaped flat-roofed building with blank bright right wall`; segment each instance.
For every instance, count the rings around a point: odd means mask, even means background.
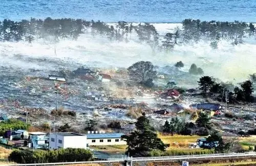
[[[87,148],[87,136],[73,132],[50,133],[49,149]]]

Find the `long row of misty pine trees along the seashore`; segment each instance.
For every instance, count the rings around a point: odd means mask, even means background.
[[[87,21],[83,19],[50,17],[42,20],[31,18],[30,20],[12,21],[4,19],[0,21],[0,41],[32,42],[35,39],[60,39],[77,40],[80,34],[90,33],[93,36],[105,36],[111,41],[129,41],[132,32],[137,34],[140,42],[145,42],[153,50],[172,50],[180,43],[198,42],[199,40],[210,40],[212,48],[218,47],[221,39],[228,40],[232,44],[242,43],[246,36],[256,37],[256,29],[252,23],[246,22],[220,22],[201,21],[185,19],[182,21],[182,30],[176,27],[173,32],[166,33],[160,38],[154,25],[150,23],[139,23],[133,25],[125,21],[108,25],[103,21]]]

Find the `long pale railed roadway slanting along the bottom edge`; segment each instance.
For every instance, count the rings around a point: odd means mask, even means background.
[[[161,157],[126,157],[126,158],[109,158],[103,161],[83,161],[83,162],[56,162],[56,163],[32,163],[32,164],[5,164],[5,166],[25,166],[25,165],[67,165],[79,163],[111,163],[123,162],[124,160],[132,161],[168,161],[168,160],[187,160],[187,159],[204,159],[204,158],[230,158],[230,157],[256,157],[256,152],[246,153],[219,153],[219,154],[201,154],[201,155],[182,155],[182,156],[161,156]]]

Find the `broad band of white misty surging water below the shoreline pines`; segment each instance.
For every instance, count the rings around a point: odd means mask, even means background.
[[[172,31],[180,24],[155,23],[160,35]],[[105,37],[93,37],[90,34],[80,35],[77,41],[61,40],[58,43],[35,40],[28,42],[1,42],[0,66],[41,70],[48,74],[50,70],[71,69],[84,65],[88,67],[129,67],[137,61],[151,61],[161,68],[182,61],[187,72],[195,63],[204,70],[204,75],[214,76],[223,81],[241,82],[248,75],[256,72],[254,38],[247,38],[244,44],[231,45],[221,41],[217,50],[212,50],[209,41],[200,41],[177,45],[169,53],[156,51],[150,46],[139,43],[135,34],[129,42],[109,41]],[[56,55],[54,53],[56,48]],[[168,71],[165,71],[168,73]],[[184,78],[186,79],[186,78]]]

